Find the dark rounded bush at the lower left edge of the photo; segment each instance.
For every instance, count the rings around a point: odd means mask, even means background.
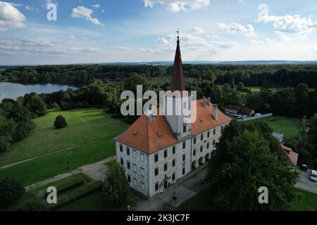
[[[9,207],[15,203],[24,193],[21,181],[13,177],[0,178],[0,206]]]

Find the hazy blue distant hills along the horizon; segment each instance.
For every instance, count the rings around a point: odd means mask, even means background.
[[[173,61],[154,62],[118,62],[118,63],[75,63],[63,65],[173,65]],[[245,61],[184,61],[184,64],[192,65],[316,65],[317,60],[245,60]],[[35,66],[36,64],[32,64]],[[13,68],[27,65],[0,65],[0,68]]]

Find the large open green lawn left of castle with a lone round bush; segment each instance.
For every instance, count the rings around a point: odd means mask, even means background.
[[[66,117],[68,127],[54,128],[57,115]],[[15,176],[25,186],[111,157],[115,154],[113,137],[128,127],[123,120],[94,108],[54,110],[34,122],[30,136],[0,158],[0,167],[29,160],[0,169],[0,176]],[[70,160],[69,169],[66,160]]]

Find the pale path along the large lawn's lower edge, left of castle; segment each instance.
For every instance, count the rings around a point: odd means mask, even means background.
[[[106,174],[108,172],[108,168],[106,166],[106,162],[110,162],[112,160],[115,160],[116,156],[106,158],[105,160],[101,160],[100,162],[95,162],[89,165],[85,165],[82,167],[79,167],[78,169],[73,170],[72,172],[68,172],[66,174],[59,174],[57,176],[51,177],[49,179],[46,179],[44,181],[39,181],[35,184],[32,184],[30,186],[25,187],[25,191],[31,191],[35,188],[38,188],[40,186],[44,186],[46,184],[50,184],[54,181],[58,181],[61,179],[64,179],[68,176],[72,176],[74,174],[83,173],[89,176],[91,179],[96,181],[104,181],[106,178]]]

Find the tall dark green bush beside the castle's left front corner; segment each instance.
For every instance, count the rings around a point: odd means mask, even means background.
[[[128,191],[129,184],[123,167],[116,163],[109,168],[108,176],[104,181],[104,197],[113,205],[123,205]]]

